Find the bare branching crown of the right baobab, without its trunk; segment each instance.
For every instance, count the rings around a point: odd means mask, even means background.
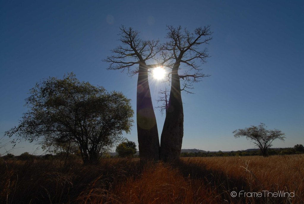
[[[177,70],[185,69],[185,74],[178,75],[180,79],[184,80],[184,87],[181,90],[193,89],[192,83],[201,81],[203,77],[210,76],[203,74],[201,72],[202,68],[200,68],[200,65],[206,63],[209,57],[208,50],[207,48],[199,50],[201,44],[208,44],[212,40],[210,26],[196,28],[194,33],[190,33],[187,28],[182,29],[181,26],[176,28],[167,26],[167,29],[166,38],[170,41],[163,46],[163,49],[172,52],[172,57],[175,60],[174,63],[168,61],[167,67],[171,70],[173,66],[177,67]],[[204,37],[206,38],[204,39]],[[183,67],[180,67],[181,64],[183,64]]]

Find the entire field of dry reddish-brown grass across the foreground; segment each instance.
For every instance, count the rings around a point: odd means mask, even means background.
[[[138,159],[102,159],[96,166],[56,159],[0,162],[0,203],[304,203],[304,154],[145,165]]]

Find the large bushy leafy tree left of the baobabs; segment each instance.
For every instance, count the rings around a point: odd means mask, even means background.
[[[133,110],[120,92],[106,92],[73,73],[63,79],[50,77],[37,83],[26,99],[29,110],[19,126],[5,135],[45,145],[77,144],[84,164],[97,163],[101,153],[129,133]],[[16,142],[16,140],[13,140]]]

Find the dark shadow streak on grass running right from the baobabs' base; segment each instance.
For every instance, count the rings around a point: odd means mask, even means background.
[[[265,197],[263,186],[249,171],[244,175],[231,175],[220,169],[207,168],[206,164],[195,160],[178,160],[171,164],[184,178],[196,183],[194,188],[205,188],[218,203],[286,203],[282,197]],[[255,180],[253,182],[253,180]],[[202,186],[198,186],[198,185]],[[258,185],[257,185],[258,184]],[[196,186],[196,187],[195,187]],[[195,189],[193,189],[195,191]],[[240,195],[239,192],[242,192]],[[236,192],[236,196],[231,193]],[[249,192],[244,196],[245,192]],[[261,192],[261,197],[251,194]],[[233,193],[232,193],[233,194]],[[216,197],[216,198],[215,198]]]

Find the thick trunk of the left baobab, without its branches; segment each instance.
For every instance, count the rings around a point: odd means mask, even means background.
[[[159,160],[157,123],[145,64],[139,66],[138,72],[136,120],[140,160]]]

